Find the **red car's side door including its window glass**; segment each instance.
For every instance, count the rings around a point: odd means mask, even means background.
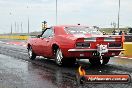
[[[43,33],[39,43],[40,44],[39,48],[42,56],[49,57],[52,49],[51,48],[52,39],[53,39],[53,29],[49,28]]]

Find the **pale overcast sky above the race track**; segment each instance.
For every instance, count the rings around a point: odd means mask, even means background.
[[[119,0],[58,0],[58,25],[82,24],[111,27],[117,23]],[[41,23],[55,25],[56,0],[0,0],[0,34],[41,31]],[[16,22],[16,30],[15,30]],[[22,29],[21,30],[21,24]],[[132,0],[121,0],[120,26],[132,27]]]

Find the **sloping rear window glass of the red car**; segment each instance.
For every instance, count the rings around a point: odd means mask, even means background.
[[[94,34],[102,35],[102,33],[94,27],[65,27],[68,34]]]

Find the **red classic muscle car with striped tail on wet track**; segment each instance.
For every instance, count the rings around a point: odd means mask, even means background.
[[[94,27],[80,25],[53,26],[27,42],[30,59],[44,56],[55,59],[59,66],[74,64],[76,59],[89,59],[94,65],[107,64],[110,57],[124,50],[122,36],[103,35]]]

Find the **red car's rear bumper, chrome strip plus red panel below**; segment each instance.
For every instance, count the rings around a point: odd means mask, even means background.
[[[68,52],[67,52],[68,51]],[[99,57],[97,49],[68,49],[64,52],[65,57],[76,57],[76,58],[93,58]],[[107,53],[102,53],[103,57],[113,57],[118,56],[121,51],[124,49],[108,49]]]

